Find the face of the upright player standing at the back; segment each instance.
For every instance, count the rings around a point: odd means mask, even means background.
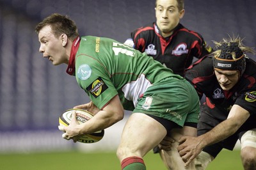
[[[156,10],[156,23],[162,36],[170,36],[173,29],[179,24],[185,10],[179,11],[177,0],[158,0]]]

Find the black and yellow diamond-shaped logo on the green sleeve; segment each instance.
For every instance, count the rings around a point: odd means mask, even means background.
[[[86,88],[90,93],[93,95],[93,97],[97,98],[100,94],[102,94],[106,89],[108,89],[107,84],[102,80],[101,77],[93,81],[88,88]]]

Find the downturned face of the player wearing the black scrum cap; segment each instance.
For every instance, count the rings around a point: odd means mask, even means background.
[[[237,70],[214,70],[217,80],[223,90],[230,90],[239,80],[239,71]]]

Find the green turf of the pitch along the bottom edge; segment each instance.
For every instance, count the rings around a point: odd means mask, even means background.
[[[144,157],[148,170],[166,170],[159,155],[152,152]],[[120,164],[115,153],[63,153],[0,154],[3,170],[115,170]],[[207,170],[242,170],[239,151],[221,151]]]

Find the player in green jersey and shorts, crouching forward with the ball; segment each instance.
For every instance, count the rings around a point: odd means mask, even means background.
[[[67,73],[76,76],[90,97],[91,102],[76,108],[95,115],[81,125],[73,116],[68,127],[59,127],[64,139],[76,142],[79,135],[108,128],[124,118],[125,109],[132,114],[116,151],[122,169],[146,169],[143,156],[166,136],[174,139],[173,148],[166,150],[172,155],[168,162],[185,169],[177,141],[182,135],[196,135],[196,128],[182,127],[197,123],[200,112],[198,95],[188,81],[115,40],[79,36],[76,24],[67,16],[53,13],[35,29],[44,58],[52,65],[67,64]]]

